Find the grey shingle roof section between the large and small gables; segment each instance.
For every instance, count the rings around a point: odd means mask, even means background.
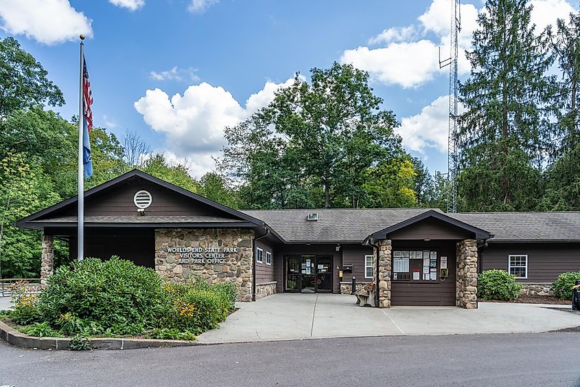
[[[329,210],[241,210],[241,212],[266,222],[286,242],[361,243],[373,232],[428,210],[428,208],[333,208]],[[310,212],[318,214],[318,221],[306,220]]]

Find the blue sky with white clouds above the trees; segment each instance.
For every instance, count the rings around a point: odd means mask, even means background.
[[[540,27],[577,4],[532,0]],[[223,126],[248,117],[295,71],[334,60],[371,74],[371,86],[402,122],[404,146],[430,170],[446,170],[450,0],[0,0],[0,36],[15,36],[78,110],[78,34],[93,89],[93,117],[154,151],[213,169]],[[573,6],[573,5],[574,6]],[[483,1],[463,1],[461,51]],[[461,77],[469,72],[462,56]],[[177,95],[177,96],[176,96]],[[174,97],[176,96],[176,97]]]

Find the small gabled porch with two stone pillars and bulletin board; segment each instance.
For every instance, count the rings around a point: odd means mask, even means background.
[[[434,210],[369,235],[380,306],[476,308],[477,245],[490,237]]]

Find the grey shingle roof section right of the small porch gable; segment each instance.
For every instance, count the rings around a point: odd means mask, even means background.
[[[448,214],[495,234],[490,242],[580,241],[580,212],[473,212]]]

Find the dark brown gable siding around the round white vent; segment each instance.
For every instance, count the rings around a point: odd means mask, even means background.
[[[214,216],[233,218],[216,208],[208,206],[205,203],[196,202],[193,199],[172,192],[167,188],[152,183],[151,181],[140,178],[130,179],[125,184],[108,190],[103,194],[95,194],[86,199],[84,214],[85,216],[127,216],[135,215],[137,207],[133,203],[133,197],[139,190],[146,190],[152,196],[151,206],[146,208],[146,213],[151,215],[163,216]],[[59,216],[75,216],[77,208],[71,206],[60,212]],[[55,214],[51,214],[55,217]]]

